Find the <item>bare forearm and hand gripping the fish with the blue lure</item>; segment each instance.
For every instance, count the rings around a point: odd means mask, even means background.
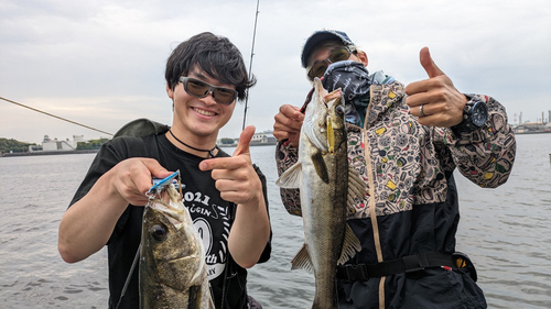
[[[122,161],[105,173],[62,218],[57,246],[63,260],[75,263],[99,251],[128,203],[148,202],[151,177],[170,175],[156,161],[143,157]]]

